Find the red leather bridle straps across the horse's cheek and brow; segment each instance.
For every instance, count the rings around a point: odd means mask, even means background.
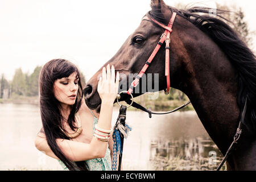
[[[131,94],[133,92],[133,89],[138,85],[139,79],[143,76],[144,72],[146,72],[148,66],[150,65],[151,61],[154,59],[156,53],[159,51],[160,47],[162,46],[164,40],[166,41],[166,70],[165,75],[167,79],[167,89],[165,90],[165,93],[168,94],[170,90],[170,34],[172,32],[172,24],[174,24],[174,20],[176,17],[176,13],[172,13],[171,19],[168,23],[168,26],[159,23],[153,18],[148,18],[147,16],[144,16],[142,20],[152,20],[152,22],[158,24],[160,27],[163,27],[165,29],[164,33],[162,34],[158,44],[156,45],[154,51],[151,53],[150,57],[146,61],[146,64],[142,68],[141,72],[139,72],[139,75],[135,78],[135,80],[131,83],[131,86],[129,90],[127,91],[127,94]]]

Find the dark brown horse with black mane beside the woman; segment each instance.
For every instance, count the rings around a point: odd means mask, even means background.
[[[254,53],[220,17],[225,11],[195,7],[177,10],[163,1],[151,1],[146,16],[168,24],[172,13],[177,16],[170,43],[171,87],[187,94],[209,136],[222,154],[228,150],[241,118],[247,97],[247,110],[242,135],[236,150],[227,161],[228,169],[256,170],[256,60]],[[201,13],[200,15],[197,13]],[[205,13],[205,15],[202,15]],[[163,34],[157,24],[142,20],[119,51],[105,65],[114,65],[125,74],[139,73]],[[159,90],[166,88],[165,51],[162,46],[147,73],[159,73]],[[100,110],[97,78],[101,69],[88,81],[85,101],[91,109]],[[121,81],[121,84],[130,83]],[[153,80],[153,82],[156,80]],[[141,93],[135,93],[137,97]],[[121,100],[129,95],[124,94]],[[139,122],[139,121],[138,121]]]

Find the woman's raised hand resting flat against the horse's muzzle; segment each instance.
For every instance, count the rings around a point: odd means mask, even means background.
[[[119,88],[119,72],[115,77],[115,68],[112,65],[110,70],[110,65],[107,68],[102,68],[102,76],[98,81],[98,94],[101,98],[101,103],[110,102],[114,103],[115,98],[117,98],[118,88]]]

